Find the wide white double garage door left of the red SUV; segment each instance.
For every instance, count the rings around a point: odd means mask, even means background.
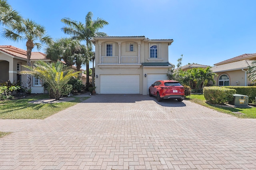
[[[140,75],[100,75],[101,94],[139,94]]]

